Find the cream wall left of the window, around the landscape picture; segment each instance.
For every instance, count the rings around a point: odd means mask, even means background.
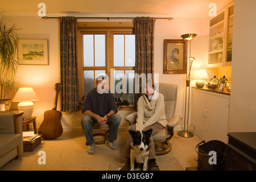
[[[42,20],[38,16],[2,16],[7,25],[14,23],[19,38],[48,39],[49,65],[20,65],[17,80],[23,87],[34,88],[39,101],[34,101],[33,115],[38,123],[43,121],[44,111],[52,109],[55,99],[54,86],[60,80],[58,22],[57,20]],[[12,102],[11,108],[16,109],[18,103]]]

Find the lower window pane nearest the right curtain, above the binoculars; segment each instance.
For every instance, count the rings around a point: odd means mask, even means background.
[[[125,71],[127,93],[125,94],[125,100],[134,102],[134,70]]]

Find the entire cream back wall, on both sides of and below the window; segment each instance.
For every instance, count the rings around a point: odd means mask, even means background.
[[[44,119],[44,111],[52,109],[55,99],[54,85],[60,81],[59,63],[59,22],[57,19],[41,19],[38,16],[3,16],[5,22],[10,25],[16,23],[16,31],[19,38],[48,39],[49,44],[49,65],[21,65],[17,78],[24,87],[34,88],[40,98],[34,101],[35,109],[32,115],[37,116],[40,124]],[[81,19],[80,19],[81,21]],[[159,73],[160,82],[167,82],[178,85],[178,101],[176,114],[184,113],[185,75],[163,74],[163,40],[181,39],[180,35],[196,33],[197,36],[192,42],[191,55],[196,58],[192,69],[205,68],[207,61],[207,19],[191,17],[174,17],[173,20],[156,20],[155,23],[155,73]],[[192,70],[193,72],[193,70]],[[12,108],[17,103],[12,102]],[[58,103],[57,109],[60,105]],[[131,111],[119,111],[122,122],[121,127],[129,125],[123,120]],[[81,128],[81,111],[74,113],[63,113],[61,122],[64,130]],[[179,125],[183,125],[181,122]],[[177,127],[176,129],[181,129]]]

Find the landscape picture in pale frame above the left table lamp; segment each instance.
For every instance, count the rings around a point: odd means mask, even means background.
[[[18,63],[49,65],[48,39],[18,39]]]

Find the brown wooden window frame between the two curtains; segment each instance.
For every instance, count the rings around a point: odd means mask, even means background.
[[[84,34],[105,34],[105,67],[84,67],[83,65],[83,51],[82,51],[82,35]],[[113,55],[113,35],[114,34],[134,34],[133,22],[78,22],[77,23],[77,58],[79,60],[79,85],[80,85],[80,100],[84,96],[84,71],[85,70],[105,70],[106,74],[110,76],[110,70],[134,70],[135,67],[114,67]],[[109,81],[109,88],[110,88]],[[95,87],[95,85],[94,85]],[[134,110],[134,106],[119,106],[119,110]]]

